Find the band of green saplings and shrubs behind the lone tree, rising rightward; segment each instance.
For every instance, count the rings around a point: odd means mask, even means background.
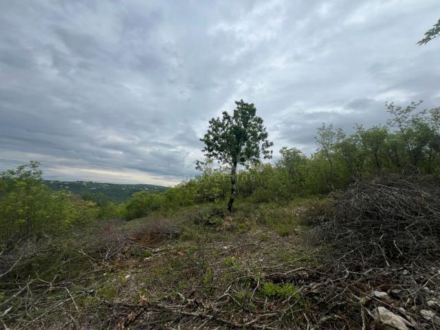
[[[322,124],[316,135],[316,153],[307,157],[296,148],[282,148],[281,158],[275,164],[254,159],[234,175],[236,188],[232,193],[230,174],[234,163],[214,168],[208,158],[201,163],[200,175],[163,194],[137,193],[126,203],[126,217],[134,219],[161,209],[223,201],[232,195],[256,204],[283,203],[292,198],[327,194],[362,177],[438,175],[440,108],[417,111],[420,104],[412,102],[407,107],[387,104],[391,118],[386,125],[366,129],[356,124],[351,135],[331,124]],[[217,157],[218,151],[208,155]]]

